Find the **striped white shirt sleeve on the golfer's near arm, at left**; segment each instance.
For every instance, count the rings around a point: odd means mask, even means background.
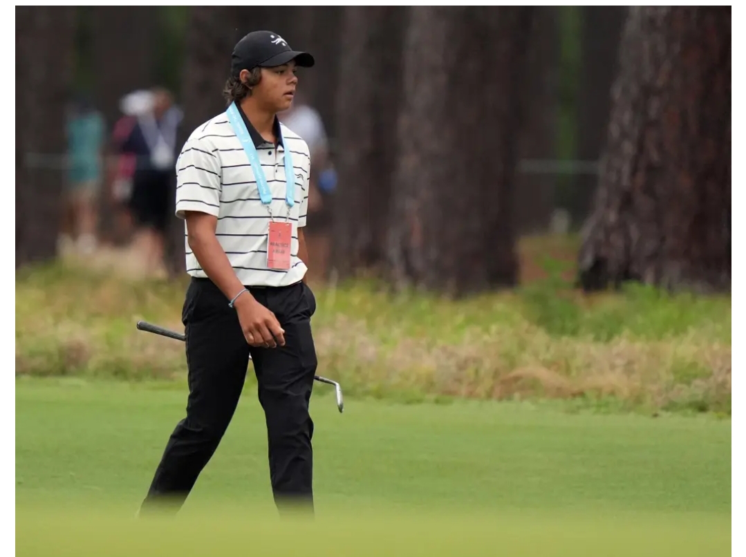
[[[198,211],[218,216],[220,210],[220,161],[204,139],[189,139],[176,161],[176,216]]]

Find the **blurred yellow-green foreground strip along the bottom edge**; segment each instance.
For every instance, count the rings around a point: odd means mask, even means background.
[[[149,523],[76,514],[19,516],[17,556],[724,556],[712,517],[568,517],[354,512],[314,523],[265,513]]]

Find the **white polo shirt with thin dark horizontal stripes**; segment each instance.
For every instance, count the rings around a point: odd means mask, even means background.
[[[272,191],[272,203],[262,204],[257,180],[226,113],[192,132],[176,163],[176,216],[185,211],[208,213],[218,218],[216,236],[236,276],[245,286],[288,286],[297,283],[307,268],[298,259],[298,227],[306,225],[310,155],[308,145],[296,133],[275,119],[277,145],[260,136],[243,110],[242,119],[254,145]],[[285,153],[290,151],[295,171],[295,204],[285,201]],[[286,271],[267,266],[269,211],[275,221],[292,224],[290,268]],[[207,277],[189,248],[184,222],[186,272]]]

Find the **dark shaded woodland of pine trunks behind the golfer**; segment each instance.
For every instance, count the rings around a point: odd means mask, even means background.
[[[45,161],[65,152],[72,92],[90,93],[112,126],[122,95],[166,86],[184,110],[181,145],[224,110],[233,44],[264,28],[317,61],[300,87],[339,176],[319,231],[330,242],[323,276],[374,273],[451,295],[510,287],[518,239],[559,232],[580,234],[586,290],[626,280],[729,290],[730,17],[730,7],[16,7],[16,267],[57,255],[64,174]]]

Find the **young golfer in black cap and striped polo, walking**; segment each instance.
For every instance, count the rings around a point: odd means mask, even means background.
[[[142,504],[180,508],[231,421],[249,354],[266,416],[278,509],[313,512],[316,372],[303,237],[310,157],[277,113],[295,95],[296,67],[313,66],[270,31],[233,48],[225,113],[194,130],[176,163],[176,215],[185,221],[186,418],[171,437]]]

